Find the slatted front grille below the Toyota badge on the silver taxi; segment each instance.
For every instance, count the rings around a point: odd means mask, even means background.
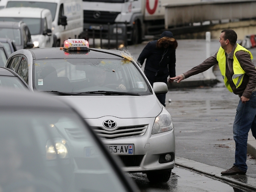
[[[118,127],[115,130],[107,130],[102,127],[93,127],[96,134],[103,139],[118,139],[134,136],[142,136],[145,134],[148,125]]]

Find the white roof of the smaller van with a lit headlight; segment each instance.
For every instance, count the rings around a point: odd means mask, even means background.
[[[23,18],[41,18],[44,8],[36,7],[10,7],[0,9],[0,17],[23,17]],[[50,10],[48,10],[50,12]]]

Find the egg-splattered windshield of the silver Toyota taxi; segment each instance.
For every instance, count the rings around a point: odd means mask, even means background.
[[[34,61],[34,89],[66,93],[151,94],[140,69],[121,59],[42,59]]]

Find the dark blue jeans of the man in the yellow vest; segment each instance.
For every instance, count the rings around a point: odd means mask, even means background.
[[[250,100],[242,104],[241,100],[236,108],[233,125],[233,136],[236,143],[235,163],[240,170],[247,170],[247,140],[248,132],[256,138],[256,91],[252,92]]]

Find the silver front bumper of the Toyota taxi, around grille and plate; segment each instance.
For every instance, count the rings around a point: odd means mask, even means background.
[[[90,119],[91,125],[102,127],[102,122],[107,119],[113,119],[120,127],[124,124],[133,126],[147,125],[146,131],[140,136],[128,136],[123,138],[107,139],[103,138],[105,144],[134,144],[134,154],[118,154],[126,172],[147,172],[155,170],[170,170],[175,164],[175,137],[174,129],[158,134],[151,134],[152,126],[155,118],[136,118],[136,119],[120,119],[110,116],[105,116],[98,119]],[[127,126],[127,127],[129,127]],[[94,129],[98,127],[94,126]],[[96,133],[98,133],[96,131]],[[165,154],[172,156],[171,160],[166,162],[163,159]]]

